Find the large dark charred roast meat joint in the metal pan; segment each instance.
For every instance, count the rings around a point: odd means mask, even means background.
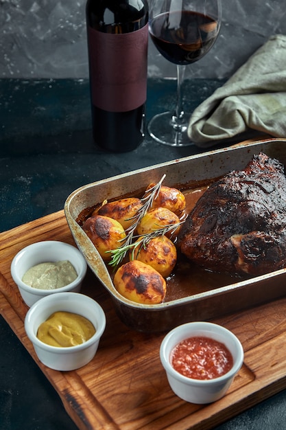
[[[222,273],[261,275],[286,267],[286,178],[260,153],[204,192],[178,247],[193,262]]]

